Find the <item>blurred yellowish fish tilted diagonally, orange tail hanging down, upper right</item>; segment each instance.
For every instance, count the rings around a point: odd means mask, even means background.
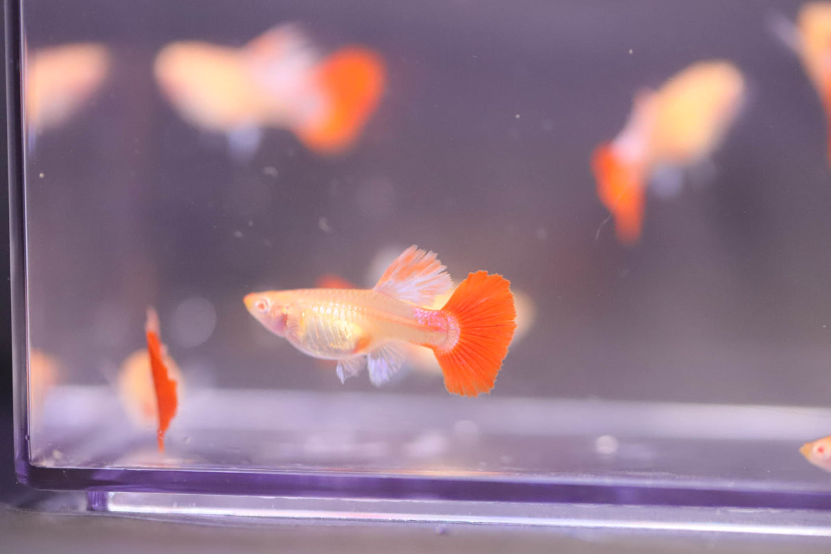
[[[647,185],[656,169],[694,165],[710,156],[734,121],[745,79],[730,62],[696,62],[656,91],[635,97],[623,130],[597,147],[597,197],[612,214],[617,240],[642,233]]]

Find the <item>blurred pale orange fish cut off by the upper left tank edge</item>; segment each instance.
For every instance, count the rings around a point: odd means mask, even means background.
[[[27,62],[26,126],[37,134],[61,126],[101,89],[110,70],[109,50],[95,42],[39,48]]]

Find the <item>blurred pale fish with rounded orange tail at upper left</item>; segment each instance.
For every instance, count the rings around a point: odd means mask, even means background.
[[[293,131],[312,151],[347,151],[375,111],[384,62],[365,47],[322,57],[302,30],[273,27],[242,48],[173,42],[155,59],[155,78],[185,121],[229,137],[234,156],[259,146],[261,129]]]

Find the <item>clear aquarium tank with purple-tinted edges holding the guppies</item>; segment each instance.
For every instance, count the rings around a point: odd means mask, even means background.
[[[7,2],[19,478],[831,508],[829,14]]]

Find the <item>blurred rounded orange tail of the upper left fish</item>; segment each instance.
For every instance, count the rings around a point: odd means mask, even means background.
[[[352,146],[375,111],[384,87],[384,62],[366,48],[342,48],[318,67],[317,84],[326,114],[300,126],[297,136],[314,151],[337,154]]]

